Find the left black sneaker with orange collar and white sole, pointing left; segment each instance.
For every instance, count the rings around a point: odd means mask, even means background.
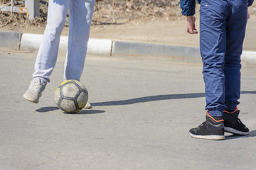
[[[189,130],[189,135],[205,140],[224,140],[224,120],[215,120],[210,115],[206,115],[206,121],[197,128]]]

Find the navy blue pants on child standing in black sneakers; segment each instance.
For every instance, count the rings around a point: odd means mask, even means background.
[[[247,0],[202,0],[200,50],[206,90],[206,110],[222,116],[235,110],[240,98],[242,43],[247,23]]]

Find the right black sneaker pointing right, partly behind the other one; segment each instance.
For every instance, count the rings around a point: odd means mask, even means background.
[[[238,118],[238,108],[233,112],[223,111],[224,130],[235,135],[249,135],[249,129]]]

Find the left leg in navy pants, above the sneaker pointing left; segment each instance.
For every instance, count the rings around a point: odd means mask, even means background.
[[[227,1],[201,1],[200,50],[206,90],[206,110],[221,117],[225,110],[224,60],[226,50]]]

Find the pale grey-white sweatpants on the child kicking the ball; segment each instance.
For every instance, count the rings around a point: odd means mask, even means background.
[[[38,50],[34,78],[41,77],[50,81],[49,76],[55,67],[60,35],[69,9],[68,50],[63,79],[64,81],[68,79],[80,81],[85,64],[94,5],[95,0],[49,0],[47,26]]]

